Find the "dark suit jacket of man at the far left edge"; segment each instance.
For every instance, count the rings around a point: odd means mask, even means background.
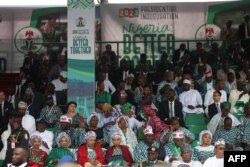
[[[0,125],[1,125],[1,134],[3,131],[7,130],[9,123],[9,113],[13,110],[13,106],[11,103],[5,101],[3,103],[4,117],[2,117],[2,113],[0,113]]]

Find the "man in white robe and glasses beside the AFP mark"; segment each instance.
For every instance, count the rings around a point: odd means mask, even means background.
[[[224,139],[218,139],[214,144],[215,156],[208,158],[202,167],[223,167],[225,145]]]

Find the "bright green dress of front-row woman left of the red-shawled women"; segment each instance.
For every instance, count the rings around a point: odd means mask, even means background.
[[[46,159],[45,166],[55,167],[57,164],[57,160],[61,159],[63,156],[66,155],[69,155],[73,158],[72,153],[67,148],[63,147],[53,148]]]

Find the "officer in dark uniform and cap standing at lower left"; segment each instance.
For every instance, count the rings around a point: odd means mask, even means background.
[[[7,139],[6,158],[3,167],[7,167],[11,163],[13,150],[16,147],[23,147],[28,149],[29,133],[22,127],[23,113],[11,110],[9,116],[9,123],[11,127],[11,134]]]

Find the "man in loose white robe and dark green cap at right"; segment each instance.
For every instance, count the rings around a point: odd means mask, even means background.
[[[221,113],[217,113],[213,118],[209,121],[207,125],[207,129],[210,130],[212,134],[216,130],[219,130],[224,125],[224,119],[226,117],[230,117],[232,119],[232,127],[240,125],[240,121],[230,113],[231,104],[229,102],[221,103]]]

